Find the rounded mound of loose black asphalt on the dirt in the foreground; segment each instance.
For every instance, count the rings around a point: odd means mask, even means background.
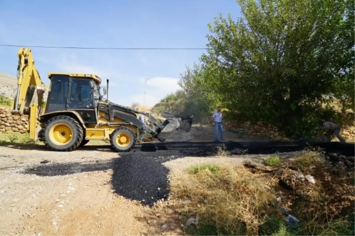
[[[152,157],[124,156],[113,165],[112,186],[125,198],[152,206],[169,194],[169,169]]]

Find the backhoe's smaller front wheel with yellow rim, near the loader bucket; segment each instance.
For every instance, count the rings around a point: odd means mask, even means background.
[[[117,152],[129,152],[137,143],[137,136],[130,128],[118,127],[110,135],[111,148]]]

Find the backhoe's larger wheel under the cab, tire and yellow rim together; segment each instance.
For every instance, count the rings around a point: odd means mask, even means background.
[[[43,127],[44,144],[52,151],[70,152],[83,141],[83,128],[69,116],[55,116],[49,119]]]

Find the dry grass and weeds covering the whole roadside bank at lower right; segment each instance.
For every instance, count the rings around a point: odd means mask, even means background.
[[[334,167],[319,151],[307,150],[271,172],[256,174],[244,166],[191,166],[170,183],[178,202],[174,208],[183,220],[199,217],[198,227],[186,228],[196,236],[351,235],[355,230],[351,219],[355,218],[354,175],[334,176]],[[297,179],[299,173],[312,175],[315,183]],[[278,204],[300,220],[293,234],[285,226],[285,216],[270,204],[277,197],[282,199]]]

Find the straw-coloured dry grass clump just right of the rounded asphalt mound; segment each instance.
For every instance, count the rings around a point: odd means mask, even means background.
[[[180,210],[229,233],[257,232],[266,205],[274,198],[261,179],[243,166],[220,166],[214,171],[194,166],[189,170],[171,185],[176,198],[191,201]]]

